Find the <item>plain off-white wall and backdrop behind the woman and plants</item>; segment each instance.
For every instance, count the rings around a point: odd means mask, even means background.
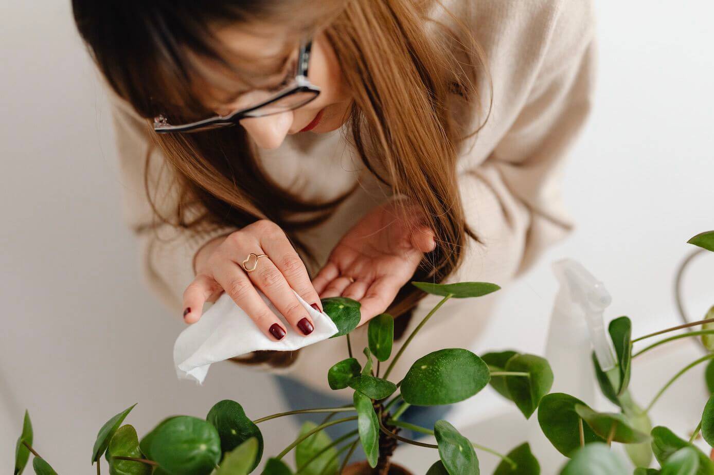
[[[577,230],[504,291],[478,351],[543,351],[550,262],[561,257],[605,282],[608,317],[630,315],[635,334],[675,325],[685,241],[714,228],[714,7],[605,0],[597,10],[595,109],[565,181]],[[271,377],[232,364],[213,367],[204,387],[176,380],[183,322],[139,278],[104,92],[69,1],[3,2],[0,16],[0,466],[9,469],[25,408],[36,448],[64,474],[89,473],[97,430],[134,402],[128,422],[140,434],[169,414],[203,417],[223,398],[252,417],[279,411]],[[713,268],[706,257],[688,275],[695,315],[714,303]],[[482,400],[459,411],[483,412]],[[286,419],[261,429],[268,454],[293,434]]]

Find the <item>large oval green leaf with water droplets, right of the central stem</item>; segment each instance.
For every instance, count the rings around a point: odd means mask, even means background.
[[[440,349],[411,365],[401,395],[415,406],[453,404],[481,391],[490,377],[488,365],[468,349]]]

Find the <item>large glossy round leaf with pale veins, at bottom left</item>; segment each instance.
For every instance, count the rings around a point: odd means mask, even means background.
[[[154,429],[151,455],[172,475],[206,475],[221,460],[221,438],[197,417],[174,417]]]

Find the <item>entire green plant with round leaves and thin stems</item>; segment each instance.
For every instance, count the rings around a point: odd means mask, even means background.
[[[714,250],[714,232],[697,235],[690,242]],[[341,473],[358,444],[361,444],[375,473],[386,474],[393,450],[399,442],[438,450],[438,460],[428,469],[431,475],[478,475],[477,451],[501,458],[494,475],[540,474],[538,461],[527,443],[508,454],[499,454],[466,439],[456,427],[444,420],[429,428],[417,427],[400,419],[412,404],[432,406],[461,402],[491,384],[499,394],[511,400],[526,419],[538,411],[538,423],[543,434],[561,454],[570,459],[563,466],[561,475],[624,474],[623,461],[610,451],[613,442],[626,445],[630,459],[638,466],[635,475],[714,475],[714,462],[692,444],[700,431],[709,444],[714,443],[714,396],[706,404],[702,421],[689,441],[680,439],[665,427],[652,429],[648,417],[653,404],[681,374],[700,363],[714,361],[714,354],[697,359],[675,374],[644,409],[634,401],[628,390],[633,361],[640,354],[675,339],[695,335],[708,337],[714,334],[714,329],[704,327],[696,332],[665,337],[638,352],[633,352],[633,344],[685,327],[709,325],[714,322],[711,315],[699,322],[635,339],[631,337],[628,317],[610,322],[608,331],[618,364],[603,372],[594,356],[593,362],[600,389],[617,404],[620,412],[596,412],[585,402],[568,394],[549,394],[553,372],[548,362],[542,357],[513,350],[478,357],[466,349],[441,349],[417,359],[401,381],[391,381],[389,376],[394,365],[408,344],[447,300],[481,297],[500,288],[488,282],[448,285],[413,282],[413,285],[443,298],[408,335],[383,373],[381,363],[389,361],[392,353],[393,318],[384,314],[369,322],[368,347],[363,349],[365,358],[361,364],[353,354],[349,336],[359,321],[359,303],[343,297],[323,300],[326,313],[339,330],[335,337],[345,337],[348,354],[347,359],[331,367],[327,374],[328,383],[332,389],[353,389],[353,404],[301,409],[251,420],[238,402],[226,400],[215,404],[206,419],[188,416],[164,419],[141,440],[134,427],[121,425],[134,408],[131,406],[109,419],[99,430],[91,459],[92,464],[96,463],[97,473],[99,459],[104,454],[109,461],[109,472],[113,475],[247,475],[258,466],[263,455],[263,436],[258,424],[291,414],[324,413],[326,417],[321,424],[304,424],[291,444],[266,461],[264,475]],[[708,384],[714,387],[714,369],[708,367],[706,375]],[[346,415],[336,418],[339,413]],[[335,424],[348,423],[356,423],[357,428],[335,441],[331,441],[323,430]],[[434,435],[437,444],[406,439],[399,434],[401,429]],[[293,449],[296,471],[283,461]],[[30,452],[35,456],[33,466],[36,474],[55,473],[33,448],[32,427],[26,413],[16,445],[16,475],[24,470]],[[660,463],[660,470],[647,468],[653,456]]]

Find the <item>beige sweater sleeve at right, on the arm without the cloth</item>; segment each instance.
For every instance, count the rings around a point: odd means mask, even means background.
[[[586,0],[540,5],[523,15],[525,24],[518,29],[538,41],[521,48],[507,44],[508,54],[493,55],[494,77],[502,78],[494,84],[494,104],[518,106],[494,108],[503,132],[487,134],[496,139],[484,145],[491,150],[483,153],[486,160],[472,165],[480,161],[476,153],[459,164],[467,221],[483,242],[472,240],[463,267],[449,280],[505,283],[573,229],[560,188],[568,150],[591,108],[597,58],[593,11]],[[504,41],[523,39],[511,38]]]

